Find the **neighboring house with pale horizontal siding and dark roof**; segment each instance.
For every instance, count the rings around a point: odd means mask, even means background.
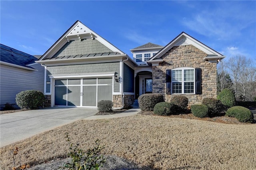
[[[0,44],[0,105],[16,104],[17,93],[44,91],[44,67],[33,55]]]

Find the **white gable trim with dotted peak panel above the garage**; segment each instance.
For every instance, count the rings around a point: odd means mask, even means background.
[[[65,45],[70,40],[82,40],[85,38],[96,39],[110,50],[114,52],[119,52],[120,54],[124,54],[120,49],[112,45],[110,42],[96,34],[96,32],[92,31],[90,28],[86,27],[82,22],[76,21],[53,45],[42,55],[39,61],[44,59],[51,58],[55,53],[57,53],[63,45]]]

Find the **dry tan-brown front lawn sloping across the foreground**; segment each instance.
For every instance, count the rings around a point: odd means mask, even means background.
[[[15,126],[15,125],[14,125]],[[12,167],[17,146],[22,162],[39,164],[64,158],[69,132],[73,142],[89,148],[99,138],[103,154],[132,160],[148,169],[256,169],[256,125],[232,125],[195,119],[134,115],[76,121],[1,148],[0,167]]]

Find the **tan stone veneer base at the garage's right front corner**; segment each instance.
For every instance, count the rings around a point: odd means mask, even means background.
[[[124,108],[132,105],[134,102],[134,95],[124,95]],[[113,107],[122,107],[122,95],[113,95]]]

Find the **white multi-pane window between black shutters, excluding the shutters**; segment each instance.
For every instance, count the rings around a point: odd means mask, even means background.
[[[195,69],[180,67],[172,69],[172,94],[194,94],[195,93]]]

